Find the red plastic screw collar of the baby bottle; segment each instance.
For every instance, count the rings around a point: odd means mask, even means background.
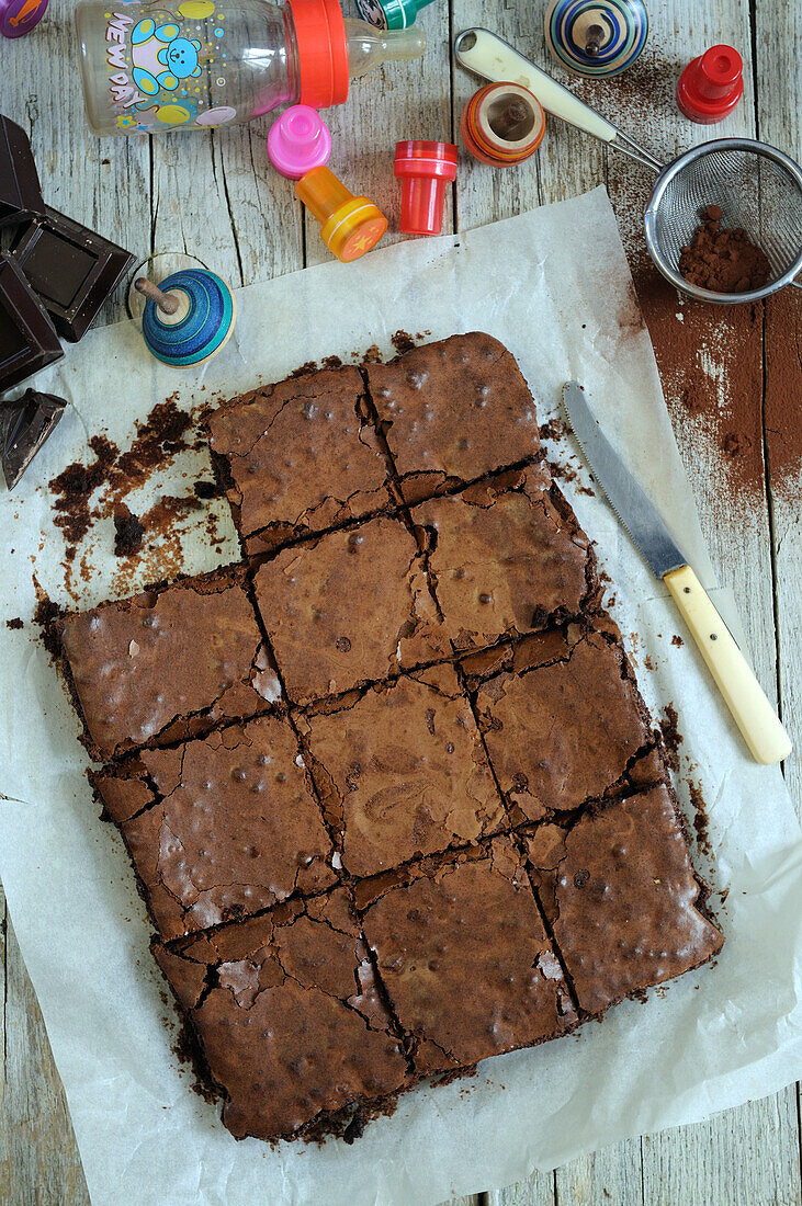
[[[349,95],[349,42],[339,0],[289,0],[300,71],[300,104],[343,105]]]

